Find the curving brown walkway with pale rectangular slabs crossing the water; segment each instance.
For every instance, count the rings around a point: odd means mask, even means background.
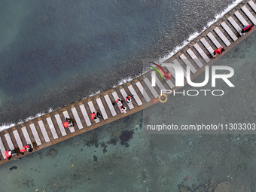
[[[246,35],[240,34],[243,26],[256,25],[255,2],[256,0],[241,2],[166,62],[177,63],[182,66],[184,72],[186,66],[190,66],[191,79],[196,78],[204,71],[204,66],[211,66],[254,32],[255,29]],[[212,53],[218,47],[224,47],[226,51],[213,58]],[[12,157],[12,160],[15,160],[22,157],[20,149],[26,144],[32,144],[35,152],[153,105],[153,100],[158,98],[160,90],[178,90],[178,87],[175,87],[174,70],[169,67],[164,69],[172,73],[172,78],[168,81],[160,80],[160,75],[157,74],[156,87],[151,86],[151,74],[148,72],[126,84],[3,130],[0,132],[0,165],[9,161],[5,158],[5,151],[8,149],[17,149],[18,154]],[[125,100],[129,93],[134,95],[133,103],[125,104],[127,112],[121,113],[120,108],[112,105],[112,102],[119,97]],[[91,120],[90,114],[93,111],[100,111],[102,119],[96,122]],[[64,128],[65,117],[72,118],[74,127]]]

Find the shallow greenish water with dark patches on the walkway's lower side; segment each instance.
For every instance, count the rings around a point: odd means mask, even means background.
[[[234,59],[226,66],[235,71],[231,80],[235,91],[223,87],[225,95],[221,99],[175,97],[166,102],[164,114],[159,105],[147,110],[163,114],[161,119],[184,123],[200,122],[202,117],[206,117],[206,123],[255,123],[255,39],[254,32],[221,59]],[[194,191],[210,181],[230,181],[232,191],[244,191],[240,190],[243,186],[253,191],[256,187],[255,135],[151,135],[144,133],[142,120],[140,111],[6,163],[0,166],[1,189],[178,191],[178,186],[187,186]],[[119,139],[113,136],[117,131],[123,133]]]

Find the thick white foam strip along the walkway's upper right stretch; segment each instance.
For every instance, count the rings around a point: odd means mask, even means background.
[[[175,47],[170,53],[166,54],[166,56],[163,56],[162,58],[158,59],[158,63],[163,63],[167,59],[169,59],[171,56],[173,56],[175,53],[177,53],[179,50],[181,50],[183,47],[185,47],[187,44],[190,43],[190,41],[194,40],[194,38],[197,38],[198,35],[200,35],[202,32],[204,32],[206,29],[209,28],[209,26],[212,26],[213,23],[217,22],[221,17],[223,17],[227,12],[232,10],[236,7],[236,5],[239,5],[240,2],[243,0],[235,0],[232,4],[228,5],[227,8],[224,9],[220,14],[215,15],[215,19],[210,20],[206,26],[203,27],[203,30],[201,32],[194,32],[193,34],[189,35],[187,40],[184,40],[181,44],[179,44],[177,47]]]

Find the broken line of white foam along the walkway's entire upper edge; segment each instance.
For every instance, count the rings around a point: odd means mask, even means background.
[[[236,7],[236,5],[239,5],[239,3],[242,2],[242,0],[236,0],[234,1],[232,4],[230,4],[229,6],[227,6],[227,8],[224,9],[224,11],[222,11],[220,14],[216,14],[215,15],[215,19],[214,20],[210,20],[209,23],[207,23],[207,25],[203,28],[203,30],[201,32],[194,32],[193,34],[189,35],[189,37],[187,38],[187,40],[183,41],[180,45],[178,45],[177,47],[175,47],[170,53],[166,54],[166,56],[163,56],[162,58],[158,59],[158,63],[162,63],[164,61],[166,61],[167,59],[169,59],[171,56],[173,56],[175,53],[177,53],[179,50],[181,50],[183,47],[185,47],[187,44],[190,43],[190,41],[192,41],[194,38],[197,38],[198,35],[200,35],[202,32],[204,32],[206,29],[209,28],[209,26],[212,26],[213,23],[215,23],[216,21],[218,21],[221,17],[223,17],[225,14],[227,14],[228,11],[230,11],[231,9],[233,9],[234,7]],[[142,75],[142,74],[140,74]],[[139,76],[140,76],[139,75]],[[138,77],[139,77],[138,76]],[[132,81],[133,78],[132,77],[128,77],[128,78],[124,78],[123,80],[119,81],[116,85],[113,86],[114,87],[117,87],[121,84],[126,84],[126,82],[129,82],[129,81]],[[91,93],[89,96],[87,97],[84,97],[83,99],[86,99],[90,96],[94,96],[98,93],[101,93],[102,91],[101,90],[98,90],[94,93]],[[63,107],[63,106],[62,106]],[[32,120],[36,117],[40,117],[44,114],[47,114],[47,113],[50,113],[51,111],[54,111],[54,110],[57,110],[58,108],[49,108],[48,111],[46,113],[38,113],[38,114],[35,114],[35,116],[30,116],[30,117],[27,117],[26,120],[19,120],[19,122],[17,123],[2,123],[2,125],[0,126],[0,131],[2,130],[6,130],[12,126],[16,126],[17,124],[20,124],[20,123],[24,123],[26,121],[29,121],[29,120]]]

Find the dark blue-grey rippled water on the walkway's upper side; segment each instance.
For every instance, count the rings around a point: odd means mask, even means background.
[[[142,73],[225,1],[2,1],[0,122],[59,108]]]

